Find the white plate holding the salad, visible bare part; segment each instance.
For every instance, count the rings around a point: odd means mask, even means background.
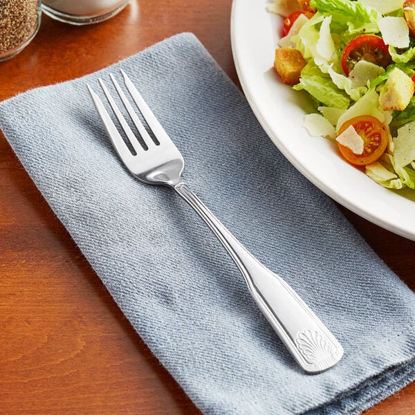
[[[255,116],[284,156],[323,192],[382,228],[415,240],[415,191],[385,189],[344,162],[331,140],[308,136],[302,127],[307,100],[282,84],[272,68],[281,25],[281,17],[266,11],[266,0],[233,1],[232,53]]]

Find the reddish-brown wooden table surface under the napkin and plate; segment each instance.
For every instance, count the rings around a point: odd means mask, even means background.
[[[230,0],[140,0],[102,24],[42,18],[0,64],[0,100],[91,73],[191,31],[237,82]],[[0,414],[198,414],[105,290],[0,135]],[[415,288],[415,242],[342,209]],[[368,412],[414,414],[415,384]]]

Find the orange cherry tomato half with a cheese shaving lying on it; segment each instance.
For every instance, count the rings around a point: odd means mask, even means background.
[[[389,140],[387,127],[373,116],[358,116],[344,122],[339,129],[339,135],[351,125],[353,125],[359,136],[363,138],[364,150],[362,154],[354,154],[351,149],[338,142],[340,153],[353,165],[365,166],[375,163],[387,147]]]

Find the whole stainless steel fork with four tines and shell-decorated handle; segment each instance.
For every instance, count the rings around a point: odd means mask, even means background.
[[[106,95],[109,105],[129,140],[131,145],[131,149],[129,149],[99,96],[88,85],[95,107],[104,122],[113,147],[124,165],[143,183],[172,187],[201,216],[239,268],[252,297],[268,322],[306,373],[318,373],[335,365],[342,358],[341,344],[295,293],[293,288],[255,259],[183,183],[181,173],[183,172],[184,160],[181,153],[170,140],[127,74],[124,71],[121,73],[125,88],[142,114],[142,118],[147,122],[147,126],[158,140],[158,144],[156,144],[151,139],[116,78],[110,75],[125,109],[140,133],[141,142],[145,142],[145,146],[140,144],[104,82],[99,80],[104,95]]]

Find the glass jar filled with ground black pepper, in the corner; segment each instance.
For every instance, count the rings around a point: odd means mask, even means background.
[[[0,61],[19,53],[40,25],[40,0],[0,0]]]

